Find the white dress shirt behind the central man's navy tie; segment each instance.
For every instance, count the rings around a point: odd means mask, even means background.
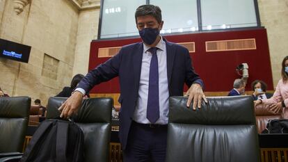
[[[160,118],[155,124],[168,124],[168,107],[169,107],[169,91],[168,91],[168,79],[167,79],[167,53],[166,42],[161,40],[156,46],[158,69],[159,69],[159,115]],[[149,124],[147,119],[147,101],[148,101],[148,89],[149,89],[149,73],[150,62],[152,54],[147,51],[150,47],[143,44],[143,58],[141,65],[141,76],[138,90],[138,100],[134,111],[133,120],[138,123]]]

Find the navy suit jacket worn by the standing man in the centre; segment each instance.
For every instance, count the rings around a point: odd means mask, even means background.
[[[191,65],[189,51],[172,42],[166,42],[167,51],[167,79],[170,96],[182,96],[184,83],[191,86],[192,83],[203,82],[194,72]],[[127,137],[134,115],[135,106],[138,99],[138,88],[141,73],[141,63],[143,56],[143,42],[129,44],[120,49],[119,53],[105,63],[91,70],[79,83],[77,88],[83,88],[89,92],[93,86],[119,76],[120,97],[118,102],[120,109],[120,131],[119,138],[122,148],[125,149]]]

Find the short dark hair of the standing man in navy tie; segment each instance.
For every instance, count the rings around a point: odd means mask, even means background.
[[[136,12],[135,12],[136,24],[137,24],[137,17],[147,16],[147,15],[154,17],[158,23],[162,22],[161,9],[158,6],[154,6],[152,4],[145,4],[145,5],[139,6],[136,9]]]

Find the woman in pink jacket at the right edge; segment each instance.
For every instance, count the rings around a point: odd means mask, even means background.
[[[288,118],[288,56],[282,60],[282,79],[278,82],[273,97],[270,99],[258,99],[257,104],[270,105],[269,111],[277,114],[282,112],[283,118]]]

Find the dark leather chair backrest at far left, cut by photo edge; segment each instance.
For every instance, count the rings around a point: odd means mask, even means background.
[[[22,152],[30,97],[0,97],[0,153]]]

